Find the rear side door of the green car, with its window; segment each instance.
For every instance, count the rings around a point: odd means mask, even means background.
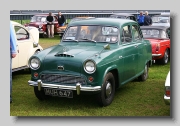
[[[146,43],[143,42],[143,37],[142,34],[140,32],[140,28],[137,24],[133,24],[132,25],[132,36],[133,36],[133,42],[136,44],[137,46],[137,50],[138,50],[138,63],[137,63],[137,73],[140,73],[145,66],[145,55],[146,52]]]

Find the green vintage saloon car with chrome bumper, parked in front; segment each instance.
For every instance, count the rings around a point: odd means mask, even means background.
[[[93,94],[101,106],[108,106],[115,89],[148,78],[151,50],[135,21],[93,18],[72,22],[59,45],[29,59],[28,84],[39,100],[49,95],[73,98]]]

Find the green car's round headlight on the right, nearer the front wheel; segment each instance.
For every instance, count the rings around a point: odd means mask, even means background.
[[[86,61],[84,64],[84,70],[89,74],[94,73],[96,71],[96,64],[91,60]]]

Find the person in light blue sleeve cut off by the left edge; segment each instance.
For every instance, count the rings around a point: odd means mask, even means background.
[[[10,103],[12,103],[12,58],[15,58],[17,55],[16,46],[14,27],[10,21]]]

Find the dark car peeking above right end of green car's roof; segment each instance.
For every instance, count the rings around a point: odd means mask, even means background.
[[[133,21],[137,21],[136,17],[133,14],[128,14],[128,13],[112,14],[112,15],[110,15],[110,18],[130,19]]]

